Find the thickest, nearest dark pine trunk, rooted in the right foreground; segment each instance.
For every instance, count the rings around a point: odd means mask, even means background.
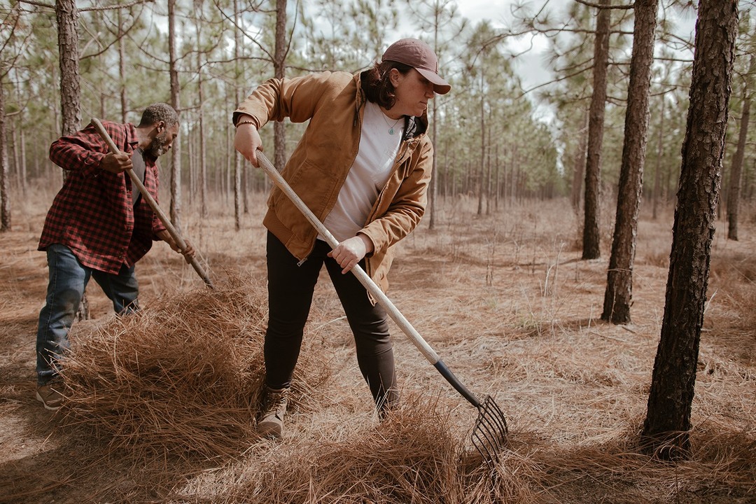
[[[737,32],[736,0],[701,0],[665,314],[641,434],[646,450],[663,459],[689,456]]]

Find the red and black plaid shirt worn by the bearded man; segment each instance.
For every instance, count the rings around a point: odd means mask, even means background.
[[[137,147],[134,125],[102,124],[121,152],[131,154]],[[39,250],[60,243],[85,266],[117,274],[122,264],[132,266],[141,259],[158,240],[155,233],[166,227],[144,198],[132,206],[129,175],[99,168],[107,152],[91,124],[50,146],[50,159],[68,176],[45,218]],[[157,166],[152,159],[144,162],[144,187],[157,201]]]

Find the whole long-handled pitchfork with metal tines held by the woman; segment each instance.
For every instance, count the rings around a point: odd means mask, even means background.
[[[338,240],[330,233],[323,223],[311,212],[308,206],[302,202],[302,199],[294,192],[290,185],[283,179],[280,173],[275,169],[274,165],[265,157],[261,151],[257,151],[257,160],[262,170],[271,178],[274,184],[285,193],[292,203],[296,205],[302,214],[305,215],[307,220],[312,226],[318,230],[325,237],[328,245],[332,249],[339,245]],[[383,306],[386,312],[394,320],[394,322],[401,328],[404,334],[409,337],[411,342],[420,350],[420,353],[432,363],[438,373],[446,379],[462,396],[469,401],[472,406],[478,410],[478,419],[475,426],[472,428],[472,445],[476,447],[478,453],[482,456],[483,460],[488,464],[489,468],[493,470],[494,465],[499,461],[499,453],[506,444],[507,438],[507,420],[504,419],[504,414],[500,407],[496,404],[494,399],[488,395],[481,403],[475,394],[472,394],[457,376],[451,372],[451,369],[446,366],[441,357],[435,353],[433,348],[423,339],[423,336],[412,326],[411,323],[401,314],[401,311],[395,307],[392,301],[386,296],[386,294],[380,289],[379,286],[373,282],[367,273],[359,266],[352,268],[352,273],[360,280],[363,286],[373,295],[373,298]]]

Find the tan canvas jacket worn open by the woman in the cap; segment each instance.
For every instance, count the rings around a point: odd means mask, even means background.
[[[288,117],[309,124],[281,174],[320,219],[336,204],[339,190],[357,156],[364,116],[359,74],[324,72],[294,79],[269,79],[234,112],[268,121]],[[380,192],[367,224],[360,231],[373,241],[366,257],[367,274],[386,291],[392,263],[391,246],[406,237],[423,217],[431,178],[433,148],[426,117],[411,117],[392,174]],[[314,247],[318,231],[277,187],[268,198],[263,224],[300,260]]]

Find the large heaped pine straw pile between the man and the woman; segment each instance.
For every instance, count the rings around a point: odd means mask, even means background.
[[[137,459],[240,453],[256,438],[266,305],[264,286],[232,280],[80,334],[64,365],[65,422]],[[327,378],[303,350],[295,408]]]

